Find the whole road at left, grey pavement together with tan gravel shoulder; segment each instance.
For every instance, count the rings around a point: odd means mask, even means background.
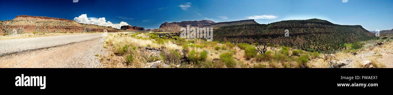
[[[104,33],[0,40],[1,68],[93,68],[101,63]]]

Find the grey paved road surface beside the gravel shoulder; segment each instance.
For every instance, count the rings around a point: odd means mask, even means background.
[[[78,35],[61,35],[50,37],[34,37],[22,39],[5,39],[0,40],[0,56],[6,56],[12,53],[22,51],[36,50],[42,48],[52,48],[73,42],[82,42],[91,39],[103,37],[104,33],[89,33]]]

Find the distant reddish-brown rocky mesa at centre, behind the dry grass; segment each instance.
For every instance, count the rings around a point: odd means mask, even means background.
[[[187,27],[187,25],[190,25],[190,27],[202,27],[204,25],[212,24],[215,23],[213,21],[208,21],[208,20],[202,20],[202,21],[182,21],[182,22],[173,22],[173,23],[162,23],[160,25],[160,28],[154,29],[154,31],[158,32],[180,32],[180,28],[182,27]]]

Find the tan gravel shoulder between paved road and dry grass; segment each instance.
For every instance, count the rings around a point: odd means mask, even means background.
[[[103,38],[0,57],[1,68],[96,68],[100,56],[109,55]],[[100,56],[94,56],[94,55]]]

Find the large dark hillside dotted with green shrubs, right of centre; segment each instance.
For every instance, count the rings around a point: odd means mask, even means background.
[[[285,37],[285,30],[289,37]],[[220,27],[213,40],[235,43],[270,43],[306,50],[342,49],[344,43],[375,38],[360,25],[336,25],[326,20],[287,20],[265,24],[245,24]]]

